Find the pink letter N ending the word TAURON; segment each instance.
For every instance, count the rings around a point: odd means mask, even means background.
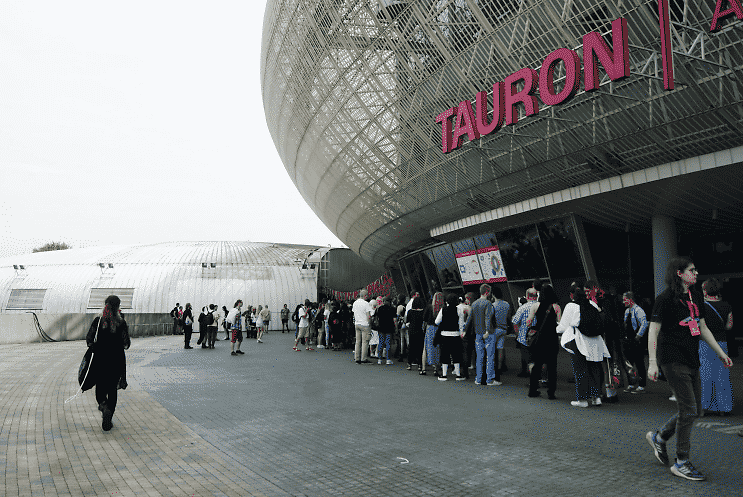
[[[596,59],[601,62],[612,81],[621,80],[630,74],[627,19],[620,17],[611,23],[611,36],[613,50],[595,31],[583,36],[583,79],[586,91],[593,91],[599,87]]]

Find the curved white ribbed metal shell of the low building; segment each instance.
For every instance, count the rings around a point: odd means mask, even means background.
[[[317,298],[319,261],[328,250],[169,242],[14,256],[0,260],[0,312],[85,314],[99,310],[111,293],[124,295],[122,308],[135,314],[167,314],[176,302],[190,302],[196,312],[210,303],[231,308],[238,298],[277,312]],[[315,262],[315,269],[302,269],[304,261]]]

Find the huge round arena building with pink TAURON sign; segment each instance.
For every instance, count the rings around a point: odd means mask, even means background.
[[[263,105],[304,199],[403,292],[652,298],[682,254],[739,300],[741,34],[740,0],[268,0]]]

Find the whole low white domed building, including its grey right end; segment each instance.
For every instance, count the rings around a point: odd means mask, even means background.
[[[121,299],[132,336],[172,332],[170,310],[194,315],[237,299],[279,311],[352,291],[382,271],[349,249],[259,242],[167,242],[38,252],[0,259],[0,343],[85,337],[109,295]],[[221,312],[221,311],[220,311]],[[198,323],[194,325],[194,331]]]

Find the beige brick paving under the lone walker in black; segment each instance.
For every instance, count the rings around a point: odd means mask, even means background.
[[[128,353],[148,341],[134,340]],[[137,388],[131,366],[114,429],[103,432],[92,390],[64,403],[76,392],[84,350],[84,342],[0,346],[0,494],[287,495],[248,468],[237,470]]]

